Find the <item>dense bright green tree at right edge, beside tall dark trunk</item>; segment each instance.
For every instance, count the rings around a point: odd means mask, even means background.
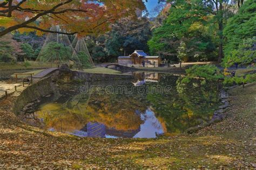
[[[224,29],[224,35],[227,39],[227,42],[225,45],[225,51],[224,51],[225,52],[224,65],[230,66],[234,62],[243,63],[243,61],[241,61],[243,57],[241,56],[246,57],[244,55],[244,52],[247,51],[246,48],[252,49],[250,45],[253,45],[252,44],[253,40],[255,42],[255,39],[252,37],[256,36],[255,11],[256,11],[255,1],[248,0],[244,3],[244,5],[241,6],[237,15],[228,19],[227,25]],[[250,56],[248,57],[250,58]]]

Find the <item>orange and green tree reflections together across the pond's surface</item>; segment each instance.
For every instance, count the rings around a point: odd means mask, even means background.
[[[96,89],[85,95],[74,92],[56,103],[43,105],[37,115],[44,119],[46,128],[57,131],[72,132],[83,129],[89,122],[97,122],[115,133],[138,131],[143,124],[140,116],[149,107],[165,132],[179,133],[211,118],[218,100],[216,89],[211,90],[209,83],[201,83],[199,88],[198,80],[184,84],[181,76],[158,79],[158,85],[173,87],[171,94],[139,94],[136,90],[133,94],[104,94]],[[155,83],[146,85],[152,88]]]

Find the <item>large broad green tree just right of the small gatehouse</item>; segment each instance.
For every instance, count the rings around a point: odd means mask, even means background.
[[[185,0],[173,2],[164,24],[153,31],[148,41],[150,52],[177,60],[177,49],[182,40],[187,45],[187,58],[190,60],[194,59],[195,53],[211,54],[215,46],[207,34],[206,15],[194,3]]]

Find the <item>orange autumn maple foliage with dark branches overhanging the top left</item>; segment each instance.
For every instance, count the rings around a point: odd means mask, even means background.
[[[105,32],[122,16],[144,9],[142,0],[6,0],[0,3],[0,36],[14,30],[75,34]],[[65,31],[51,31],[51,25]]]

